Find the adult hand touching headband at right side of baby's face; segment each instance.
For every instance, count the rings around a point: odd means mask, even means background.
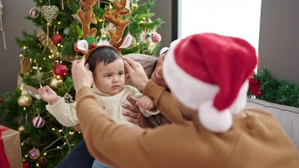
[[[139,62],[135,62],[133,59],[124,57],[124,66],[128,73],[128,78],[130,78],[140,90],[144,90],[149,78],[147,78],[147,74],[142,65]]]

